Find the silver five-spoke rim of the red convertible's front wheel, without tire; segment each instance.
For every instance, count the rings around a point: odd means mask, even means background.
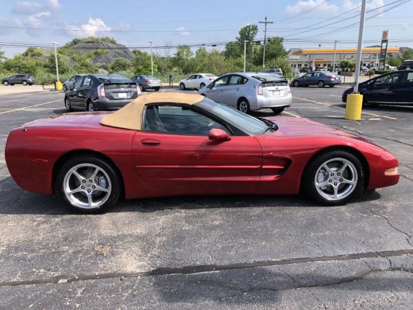
[[[332,158],[321,164],[315,174],[317,192],[327,200],[349,196],[357,186],[357,169],[345,158]]]

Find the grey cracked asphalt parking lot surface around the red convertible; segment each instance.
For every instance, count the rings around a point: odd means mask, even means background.
[[[293,88],[283,115],[390,150],[399,185],[341,207],[202,196],[125,200],[100,215],[23,191],[6,167],[10,130],[65,112],[63,94],[0,96],[1,308],[411,309],[413,107],[368,106],[345,121],[343,90]]]

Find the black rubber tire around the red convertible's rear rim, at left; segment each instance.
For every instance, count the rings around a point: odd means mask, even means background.
[[[98,207],[92,207],[92,208],[85,208],[85,207],[79,207],[78,205],[74,205],[69,198],[67,198],[67,195],[65,194],[65,176],[66,174],[72,169],[73,167],[76,167],[76,165],[96,165],[100,169],[102,169],[107,176],[109,176],[110,184],[112,185],[109,187],[110,192],[109,192],[109,197],[103,203],[102,205],[99,205]],[[70,158],[68,161],[65,162],[65,164],[59,169],[59,172],[57,173],[56,176],[56,182],[54,184],[54,189],[56,194],[58,194],[63,201],[71,209],[74,209],[75,211],[85,213],[85,214],[96,214],[96,213],[101,213],[104,209],[107,209],[108,207],[113,207],[116,202],[118,201],[120,194],[122,193],[122,187],[121,187],[121,182],[120,182],[120,176],[116,173],[114,167],[107,161],[95,157],[95,156],[75,156],[73,158]],[[86,198],[87,199],[87,198]]]

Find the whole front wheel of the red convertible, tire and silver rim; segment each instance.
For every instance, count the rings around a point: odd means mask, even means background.
[[[364,176],[359,158],[350,152],[333,149],[308,163],[302,187],[322,205],[343,205],[363,192]]]

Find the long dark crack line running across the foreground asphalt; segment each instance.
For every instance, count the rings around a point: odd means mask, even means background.
[[[87,280],[103,280],[114,278],[136,278],[136,277],[153,277],[153,276],[169,276],[169,275],[190,275],[196,273],[207,273],[217,271],[229,271],[236,269],[248,269],[255,267],[271,267],[281,265],[292,265],[306,262],[326,262],[326,261],[343,261],[343,260],[361,260],[363,258],[388,258],[392,256],[402,256],[405,254],[413,254],[413,249],[401,249],[392,251],[374,251],[358,254],[343,254],[337,256],[319,256],[319,257],[304,257],[304,258],[286,258],[282,260],[264,260],[258,262],[242,262],[229,265],[190,265],[183,267],[159,267],[150,271],[140,271],[135,273],[127,272],[110,272],[110,273],[94,273],[74,276],[54,276],[50,278],[34,279],[34,280],[12,280],[0,282],[0,287],[10,287],[19,285],[39,285],[39,284],[58,284],[58,283],[70,283]],[[371,270],[371,269],[370,269]],[[390,270],[390,269],[389,269]],[[392,269],[393,270],[393,269]],[[403,269],[404,270],[404,269]],[[412,271],[413,272],[413,271]],[[295,282],[294,278],[286,275]],[[341,280],[346,280],[342,278]]]

